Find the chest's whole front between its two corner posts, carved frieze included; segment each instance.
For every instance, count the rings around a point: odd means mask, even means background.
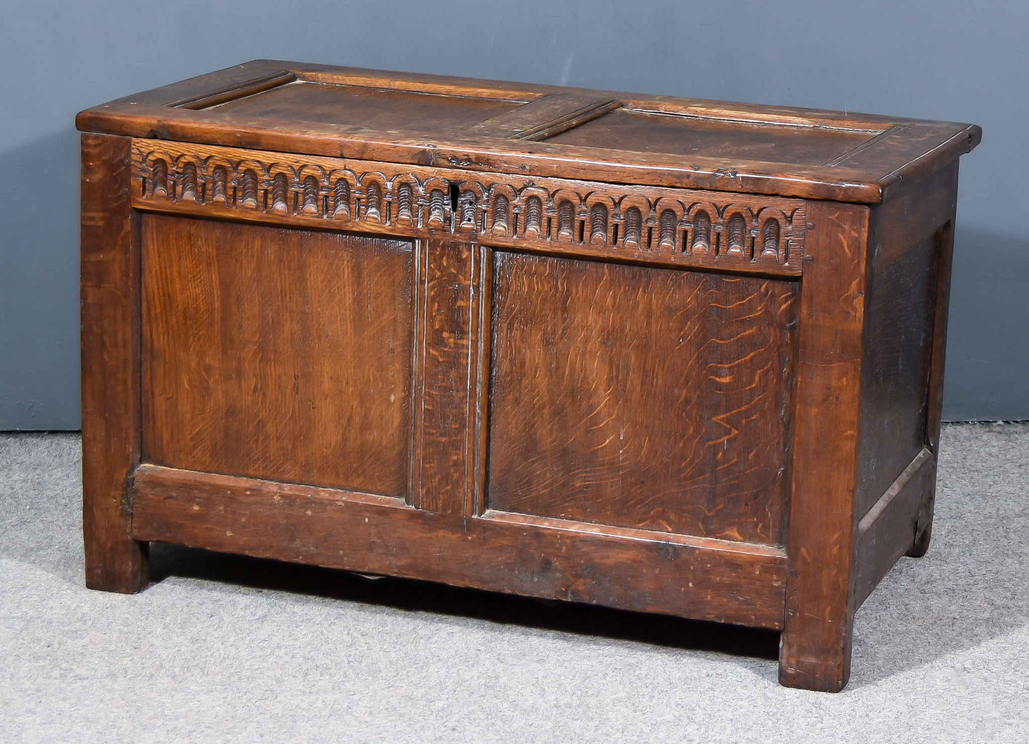
[[[136,536],[782,626],[803,201],[133,155]]]

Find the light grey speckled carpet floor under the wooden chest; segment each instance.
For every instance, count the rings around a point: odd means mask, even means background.
[[[170,546],[91,592],[80,461],[0,436],[4,742],[1029,741],[1026,424],[945,427],[840,695],[780,687],[770,633]]]

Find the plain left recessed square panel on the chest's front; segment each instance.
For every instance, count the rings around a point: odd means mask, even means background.
[[[404,497],[407,240],[141,216],[142,460]]]

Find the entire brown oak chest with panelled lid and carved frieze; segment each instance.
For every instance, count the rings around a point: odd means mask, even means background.
[[[259,61],[79,114],[86,583],[147,542],[781,631],[929,542],[978,126]]]

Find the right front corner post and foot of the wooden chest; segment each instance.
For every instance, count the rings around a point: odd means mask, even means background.
[[[779,681],[839,692],[850,676],[855,449],[868,210],[808,204],[790,463],[789,572]]]

